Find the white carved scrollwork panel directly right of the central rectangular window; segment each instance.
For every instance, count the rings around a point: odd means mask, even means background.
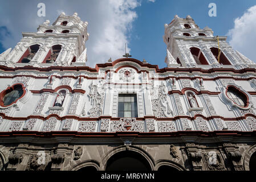
[[[153,87],[153,86],[152,86]],[[153,87],[151,89],[151,99],[152,99],[152,110],[153,114],[156,118],[166,118],[166,111],[167,111],[167,97],[165,93],[165,85],[163,82],[161,82],[161,85],[159,87]],[[172,113],[172,110],[170,110],[168,113]]]

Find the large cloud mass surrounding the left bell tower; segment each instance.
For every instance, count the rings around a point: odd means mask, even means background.
[[[46,19],[50,19],[53,23],[62,11],[66,15],[77,12],[83,21],[88,22],[87,31],[90,36],[86,43],[87,65],[91,67],[96,63],[104,63],[109,57],[112,60],[119,59],[124,54],[124,44],[128,42],[129,30],[137,18],[135,8],[140,6],[139,0],[42,0],[40,2],[46,5],[46,17],[37,16],[38,1],[1,3],[5,8],[1,8],[0,11],[2,17],[0,27],[7,27],[11,34],[2,38],[3,46],[6,49],[13,48],[22,38],[21,32],[35,32],[38,25]]]

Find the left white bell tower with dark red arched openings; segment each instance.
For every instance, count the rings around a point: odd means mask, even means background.
[[[74,66],[86,65],[87,22],[77,13],[62,13],[50,25],[50,20],[39,25],[37,32],[23,32],[23,38],[12,51],[0,56],[0,65],[7,67]]]

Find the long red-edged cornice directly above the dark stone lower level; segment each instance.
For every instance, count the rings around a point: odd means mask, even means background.
[[[255,137],[256,131],[175,131],[175,132],[151,132],[140,133],[134,131],[124,131],[116,133],[81,133],[77,131],[11,131],[0,132],[0,137],[182,137],[182,136],[198,136],[198,137],[227,137],[227,136],[239,136],[239,137]]]

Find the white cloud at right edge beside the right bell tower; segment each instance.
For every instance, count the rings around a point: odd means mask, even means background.
[[[239,18],[234,20],[234,28],[229,30],[229,44],[243,55],[255,61],[256,57],[256,5],[250,7]]]

